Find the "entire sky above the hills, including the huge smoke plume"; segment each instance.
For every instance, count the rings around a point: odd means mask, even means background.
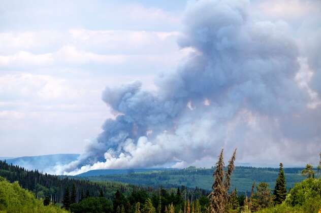
[[[0,156],[82,153],[58,172],[77,173],[321,151],[319,1],[0,5]]]

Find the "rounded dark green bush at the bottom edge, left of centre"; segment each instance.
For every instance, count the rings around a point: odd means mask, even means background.
[[[70,210],[74,213],[82,212],[113,212],[113,204],[104,197],[88,197],[79,203],[70,205]]]

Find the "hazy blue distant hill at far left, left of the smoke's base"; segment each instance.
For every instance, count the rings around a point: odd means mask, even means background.
[[[28,170],[38,169],[39,171],[50,172],[54,166],[70,163],[76,160],[78,156],[79,154],[54,154],[11,158],[6,159],[6,161]]]

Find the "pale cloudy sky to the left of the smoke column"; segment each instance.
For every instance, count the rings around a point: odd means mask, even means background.
[[[0,156],[80,153],[107,85],[173,70],[185,1],[162,2],[1,1]]]

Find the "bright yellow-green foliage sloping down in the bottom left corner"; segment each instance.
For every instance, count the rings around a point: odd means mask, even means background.
[[[0,212],[66,212],[54,205],[44,206],[42,200],[22,189],[17,182],[0,177]]]

